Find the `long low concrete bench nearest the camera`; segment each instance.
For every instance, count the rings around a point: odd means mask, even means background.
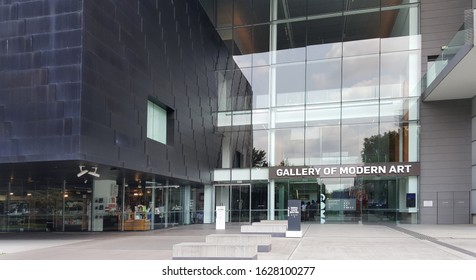
[[[256,260],[256,245],[184,242],[175,244],[173,260]]]

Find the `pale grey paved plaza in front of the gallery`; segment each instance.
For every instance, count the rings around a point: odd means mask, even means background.
[[[208,234],[196,224],[147,232],[0,233],[0,260],[171,260],[172,246]],[[302,238],[272,238],[259,260],[476,260],[476,225],[303,224]]]

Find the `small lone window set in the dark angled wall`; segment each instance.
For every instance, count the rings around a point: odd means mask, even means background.
[[[147,101],[147,138],[167,144],[167,110]]]

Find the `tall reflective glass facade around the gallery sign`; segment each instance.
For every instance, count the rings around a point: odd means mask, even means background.
[[[234,60],[216,72],[217,185],[266,180],[267,219],[300,199],[319,204],[310,221],[417,222],[406,202],[418,176],[273,180],[263,169],[419,161],[419,1],[203,2]]]

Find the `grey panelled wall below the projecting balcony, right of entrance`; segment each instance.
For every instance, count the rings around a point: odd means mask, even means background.
[[[438,202],[440,206],[441,203],[448,203],[442,199],[458,203],[458,199],[465,197],[469,201],[471,102],[455,100],[422,103],[420,113],[420,221],[442,223],[439,215],[443,214],[443,208],[438,209]],[[424,207],[423,201],[432,201],[433,206]],[[469,208],[466,211],[466,223],[469,222],[468,215]],[[454,223],[461,222],[459,217],[454,218]]]

